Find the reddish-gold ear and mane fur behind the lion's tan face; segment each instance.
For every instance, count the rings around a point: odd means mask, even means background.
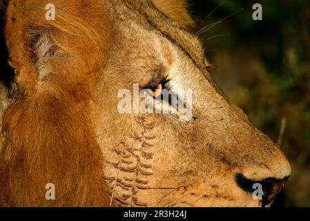
[[[96,12],[84,7],[85,3],[54,3],[55,22],[42,19],[44,1],[10,1],[8,5],[10,65],[17,72],[22,93],[3,116],[7,137],[2,153],[9,177],[6,191],[10,191],[12,206],[106,206],[109,200],[101,178],[101,154],[84,106],[93,93],[92,70],[104,61],[97,53],[108,50],[108,22],[99,23],[106,20],[99,11],[97,16],[85,17]],[[100,1],[95,7],[100,7]],[[97,30],[90,23],[97,23]],[[52,45],[36,45],[47,41]],[[44,50],[55,50],[57,60]],[[43,74],[38,72],[39,66],[48,65],[52,73],[39,79]],[[75,71],[69,75],[72,69]],[[42,187],[49,182],[59,186],[56,203],[41,197],[46,191]]]

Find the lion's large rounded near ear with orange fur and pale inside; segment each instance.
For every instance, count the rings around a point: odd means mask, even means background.
[[[21,88],[34,90],[41,81],[72,88],[91,78],[86,73],[104,63],[112,39],[108,12],[98,7],[100,2],[9,1],[6,44]],[[47,19],[52,12],[55,19]]]

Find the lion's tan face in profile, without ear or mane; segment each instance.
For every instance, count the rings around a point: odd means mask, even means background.
[[[202,68],[197,39],[157,17],[155,8],[146,9],[148,21],[120,8],[113,23],[115,42],[92,102],[112,201],[121,206],[259,206],[252,187],[261,183],[263,204],[269,204],[291,173],[289,163],[213,84]],[[133,112],[133,85],[139,84],[140,91],[160,82],[175,94],[192,91],[192,101],[183,101],[191,102],[191,119],[182,121],[178,113],[119,113],[119,90],[130,90]]]

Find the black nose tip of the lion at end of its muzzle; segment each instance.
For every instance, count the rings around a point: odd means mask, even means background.
[[[242,173],[238,173],[235,175],[235,182],[237,182],[238,186],[246,191],[247,193],[253,193],[255,188],[253,188],[254,184],[261,184],[262,186],[262,206],[267,206],[273,201],[275,195],[277,195],[284,184],[289,180],[289,176],[284,177],[281,180],[275,179],[273,177],[268,177],[264,180],[249,180]]]

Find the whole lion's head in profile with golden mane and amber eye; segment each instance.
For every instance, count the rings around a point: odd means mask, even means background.
[[[182,0],[8,1],[1,206],[270,206],[290,164],[216,86],[193,25]],[[191,90],[189,119],[119,113],[134,84]]]

